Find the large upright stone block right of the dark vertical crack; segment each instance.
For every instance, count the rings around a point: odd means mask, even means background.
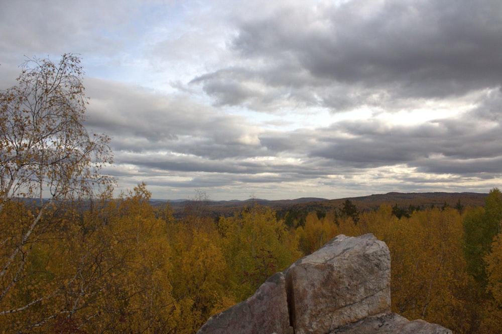
[[[295,333],[328,333],[391,309],[391,255],[372,234],[340,235],[289,267]]]

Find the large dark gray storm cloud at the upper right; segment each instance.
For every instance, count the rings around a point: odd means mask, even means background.
[[[194,81],[221,104],[256,97],[241,86],[243,77],[278,91],[277,98],[315,89],[320,100],[304,102],[334,110],[462,95],[499,86],[502,78],[498,0],[297,6],[238,28],[235,52],[256,62]]]

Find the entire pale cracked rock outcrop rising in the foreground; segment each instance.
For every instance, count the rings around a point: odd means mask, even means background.
[[[339,235],[209,318],[198,333],[451,333],[391,313],[390,281],[383,241]]]

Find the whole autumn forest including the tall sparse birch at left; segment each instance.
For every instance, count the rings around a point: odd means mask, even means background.
[[[394,312],[455,332],[502,327],[497,188],[482,205],[249,201],[219,216],[203,196],[177,215],[154,206],[143,183],[117,198],[100,173],[109,138],[83,126],[79,64],[29,60],[0,94],[2,332],[193,333],[336,235],[365,233],[390,248]]]

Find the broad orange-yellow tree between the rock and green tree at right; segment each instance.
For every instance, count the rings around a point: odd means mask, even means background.
[[[395,222],[384,241],[391,251],[396,312],[465,332],[468,305],[462,295],[469,277],[462,238],[461,217],[454,209],[428,209]]]

